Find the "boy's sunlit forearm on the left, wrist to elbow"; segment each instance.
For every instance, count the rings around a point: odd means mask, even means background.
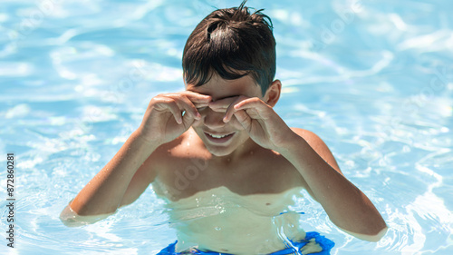
[[[130,180],[158,144],[146,142],[138,131],[133,132],[96,176],[71,202],[72,211],[79,215],[112,213],[120,206]]]

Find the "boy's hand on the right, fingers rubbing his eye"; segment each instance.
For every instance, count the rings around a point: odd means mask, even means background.
[[[278,151],[295,135],[274,109],[257,97],[230,97],[211,102],[209,107],[214,111],[225,109],[225,123],[235,116],[250,138],[266,149]]]

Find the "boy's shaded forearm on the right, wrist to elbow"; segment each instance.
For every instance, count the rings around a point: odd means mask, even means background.
[[[329,218],[343,230],[377,235],[386,228],[381,214],[371,201],[337,172],[313,148],[297,135],[279,150],[296,167]]]

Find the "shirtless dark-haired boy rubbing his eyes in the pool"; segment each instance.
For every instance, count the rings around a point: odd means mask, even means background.
[[[161,254],[291,254],[305,232],[287,206],[305,189],[342,230],[381,239],[381,214],[324,142],[289,128],[273,110],[282,84],[274,80],[272,22],[244,5],[198,24],[184,48],[186,91],[151,99],[140,127],[71,201],[63,221],[97,221],[152,183],[169,201],[178,234]]]

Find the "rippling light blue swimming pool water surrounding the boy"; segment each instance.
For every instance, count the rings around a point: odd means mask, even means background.
[[[165,3],[164,3],[165,2]],[[0,162],[14,152],[14,249],[0,254],[155,254],[175,240],[148,189],[96,224],[59,214],[140,124],[149,99],[183,89],[180,58],[205,15],[240,1],[3,1]],[[257,1],[273,18],[275,110],[318,133],[390,230],[354,239],[300,201],[332,254],[452,254],[453,2]],[[0,230],[10,211],[0,173]]]

